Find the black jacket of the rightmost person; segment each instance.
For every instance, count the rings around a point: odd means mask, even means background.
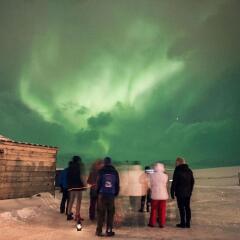
[[[192,170],[187,164],[181,164],[175,168],[171,186],[171,197],[190,197],[194,186]]]

